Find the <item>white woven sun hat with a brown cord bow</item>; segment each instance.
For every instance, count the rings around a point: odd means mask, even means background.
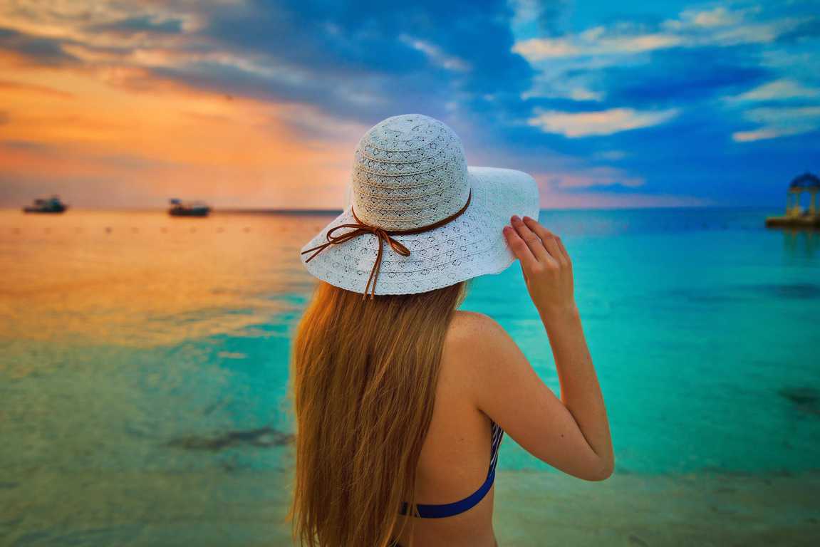
[[[371,294],[416,294],[505,270],[512,215],[538,218],[531,175],[467,166],[461,140],[421,114],[391,116],[356,148],[344,212],[302,248],[312,276]]]

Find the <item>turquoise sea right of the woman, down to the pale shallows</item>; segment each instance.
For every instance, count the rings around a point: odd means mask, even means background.
[[[765,230],[763,213],[542,214],[573,257],[617,472],[818,467],[820,234]],[[558,393],[518,272],[475,288],[468,307],[497,317]],[[546,467],[505,449],[508,468]]]

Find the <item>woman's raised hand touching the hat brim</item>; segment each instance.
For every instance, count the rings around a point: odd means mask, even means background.
[[[504,237],[521,262],[526,288],[541,318],[576,312],[572,261],[561,238],[530,217],[510,220],[512,227],[504,226]]]

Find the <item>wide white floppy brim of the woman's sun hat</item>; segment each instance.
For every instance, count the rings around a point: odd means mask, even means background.
[[[472,196],[467,210],[453,221],[420,234],[394,235],[410,250],[405,257],[385,245],[375,294],[417,294],[507,269],[515,260],[503,227],[512,215],[538,218],[538,185],[523,171],[467,167]],[[325,226],[302,251],[327,242],[327,232],[354,224],[352,205]],[[344,233],[340,228],[335,236]],[[378,253],[379,240],[369,233],[328,245],[307,262],[312,276],[341,289],[364,293]],[[368,290],[368,292],[370,292]]]

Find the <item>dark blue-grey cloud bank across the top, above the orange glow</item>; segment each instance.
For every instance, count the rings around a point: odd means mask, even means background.
[[[144,69],[149,80],[373,122],[408,108],[453,117],[519,107],[533,71],[511,51],[510,16],[503,0],[481,10],[469,0],[403,7],[114,1],[98,9],[83,2],[39,9],[22,0],[0,7],[16,33],[46,39],[54,54],[85,68]]]

